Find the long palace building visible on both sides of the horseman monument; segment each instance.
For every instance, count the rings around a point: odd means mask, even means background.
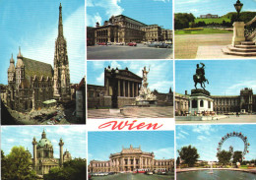
[[[230,112],[256,112],[256,94],[252,89],[244,88],[239,95],[211,95],[214,99],[214,111],[218,114]],[[176,115],[189,113],[190,94],[175,93]]]

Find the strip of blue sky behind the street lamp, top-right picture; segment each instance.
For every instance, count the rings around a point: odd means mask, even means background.
[[[195,17],[213,14],[223,16],[229,12],[236,12],[233,4],[236,0],[176,0],[175,13],[193,13]],[[242,11],[256,11],[256,0],[240,0]]]

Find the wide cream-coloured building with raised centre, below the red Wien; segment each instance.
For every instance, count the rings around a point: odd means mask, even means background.
[[[91,160],[89,172],[131,172],[137,169],[146,171],[171,171],[173,159],[155,159],[154,152],[146,152],[139,148],[122,148],[120,152],[110,153],[109,160]]]

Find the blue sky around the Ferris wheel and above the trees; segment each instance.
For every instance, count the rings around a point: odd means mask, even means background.
[[[245,155],[245,160],[256,158],[256,125],[180,125],[176,126],[176,149],[181,150],[182,147],[191,145],[195,147],[200,154],[201,160],[218,160],[216,157],[218,144],[222,137],[227,133],[238,132],[247,137],[250,146],[249,153]],[[233,150],[243,151],[244,144],[239,138],[229,138],[224,142],[222,150],[229,150],[232,146]],[[178,155],[178,152],[177,152]]]

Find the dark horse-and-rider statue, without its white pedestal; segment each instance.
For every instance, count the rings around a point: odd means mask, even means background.
[[[200,67],[199,64],[197,64],[196,74],[193,76],[194,82],[195,82],[195,88],[197,89],[197,84],[199,83],[202,87],[202,89],[205,90],[206,85],[205,83],[209,84],[208,80],[205,77],[205,64],[200,63],[202,66]]]

